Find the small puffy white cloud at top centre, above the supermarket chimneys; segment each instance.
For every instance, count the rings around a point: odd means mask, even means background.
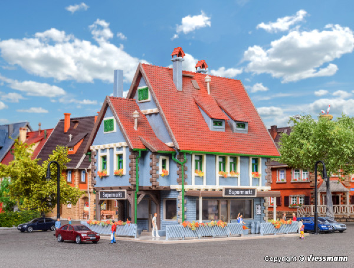
[[[203,11],[200,15],[191,17],[190,15],[182,18],[181,25],[176,25],[176,33],[172,39],[178,38],[179,33],[188,34],[203,27],[211,27],[211,17],[207,17]]]

